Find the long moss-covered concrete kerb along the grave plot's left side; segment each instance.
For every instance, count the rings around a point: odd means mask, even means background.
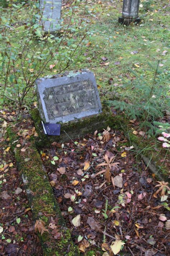
[[[11,144],[16,140],[13,132],[8,129]],[[29,205],[32,208],[34,220],[44,221],[44,226],[49,230],[38,236],[43,248],[43,255],[78,256],[79,248],[74,245],[71,232],[67,229],[60,207],[53,195],[46,172],[43,170],[40,155],[33,144],[29,144],[25,152],[20,149],[15,151],[15,159],[20,175],[22,176],[24,188],[27,192]],[[51,217],[55,219],[55,225],[61,234],[60,239],[55,239],[48,226]]]

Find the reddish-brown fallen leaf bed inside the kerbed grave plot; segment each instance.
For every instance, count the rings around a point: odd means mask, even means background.
[[[41,152],[72,238],[84,253],[112,255],[116,239],[125,243],[121,255],[169,255],[169,188],[151,176],[120,131],[108,130]]]

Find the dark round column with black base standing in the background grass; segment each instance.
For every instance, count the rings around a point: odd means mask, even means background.
[[[128,26],[131,22],[139,23],[138,18],[140,0],[123,0],[122,17],[119,17],[119,23]]]

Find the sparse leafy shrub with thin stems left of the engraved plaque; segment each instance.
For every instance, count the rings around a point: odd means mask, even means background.
[[[68,68],[73,60],[73,56],[78,54],[79,48],[82,50],[85,38],[89,35],[89,22],[93,14],[89,12],[88,20],[85,18],[75,18],[74,13],[78,6],[75,3],[63,18],[67,18],[67,23],[58,23],[56,34],[51,35],[43,31],[43,22],[47,18],[43,17],[39,9],[39,3],[30,1],[29,6],[24,6],[9,1],[9,8],[1,13],[0,24],[0,73],[3,87],[3,98],[13,100],[18,105],[18,115],[22,110],[25,96],[34,86],[34,82],[46,73],[46,70],[56,68],[56,73],[63,72]],[[14,26],[18,22],[17,10],[29,12],[26,26],[21,26],[20,30]],[[53,26],[51,19],[51,26]],[[60,35],[58,31],[61,31]],[[22,32],[22,33],[21,33]],[[2,101],[2,100],[1,100]]]

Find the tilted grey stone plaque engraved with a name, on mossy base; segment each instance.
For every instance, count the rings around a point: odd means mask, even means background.
[[[92,72],[36,80],[39,113],[45,123],[67,122],[101,113]]]

